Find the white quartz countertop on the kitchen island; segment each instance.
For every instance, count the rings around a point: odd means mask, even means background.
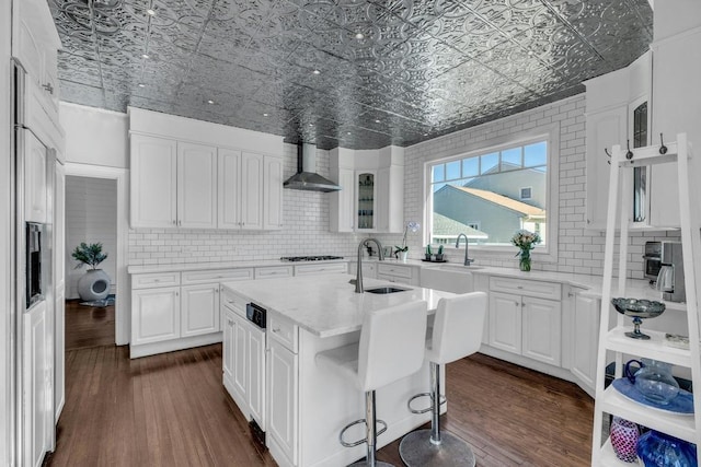
[[[295,277],[284,279],[223,282],[222,285],[246,301],[278,313],[319,337],[331,337],[360,330],[364,316],[374,310],[425,300],[435,311],[441,297],[453,296],[420,287],[365,279],[365,289],[391,285],[405,292],[375,294],[355,293],[349,275]]]

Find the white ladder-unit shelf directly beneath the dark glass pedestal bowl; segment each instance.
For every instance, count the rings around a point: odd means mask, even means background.
[[[624,326],[614,327],[606,337],[606,348],[616,352],[625,352],[632,355],[662,360],[673,365],[691,367],[691,351],[666,346],[664,343],[665,332],[643,328],[642,332],[650,336],[651,339],[640,340],[625,336],[625,332],[632,330],[632,328]]]

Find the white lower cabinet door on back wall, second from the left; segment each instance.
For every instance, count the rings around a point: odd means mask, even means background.
[[[219,284],[183,285],[181,336],[219,331]]]

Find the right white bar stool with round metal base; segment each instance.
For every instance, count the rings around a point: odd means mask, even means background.
[[[470,445],[450,432],[440,432],[440,365],[455,362],[480,350],[486,315],[486,294],[472,292],[451,299],[440,299],[433,330],[426,339],[426,359],[430,361],[430,393],[417,394],[409,402],[413,413],[433,411],[430,430],[409,433],[399,445],[399,454],[409,467],[470,466],[475,458]],[[430,397],[427,409],[414,410],[412,401]]]

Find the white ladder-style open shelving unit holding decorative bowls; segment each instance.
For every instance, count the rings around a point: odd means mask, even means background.
[[[631,156],[632,154],[632,156]],[[698,305],[698,268],[701,265],[701,223],[694,206],[691,209],[690,171],[691,147],[686,133],[677,135],[677,141],[667,144],[667,151],[659,145],[639,148],[631,152],[614,145],[611,156],[611,177],[606,230],[606,250],[604,261],[604,292],[601,297],[601,325],[599,330],[599,349],[597,360],[596,401],[594,411],[594,433],[591,448],[593,466],[631,466],[616,457],[608,435],[602,433],[605,413],[618,416],[640,425],[656,430],[683,441],[697,444],[697,462],[701,465],[701,357],[699,341],[699,305]],[[609,327],[611,313],[611,289],[613,278],[613,257],[616,246],[616,221],[620,218],[620,242],[618,249],[618,296],[625,297],[628,266],[629,219],[632,212],[632,189],[628,186],[632,177],[624,176],[634,167],[655,164],[675,164],[678,175],[680,233],[683,255],[685,285],[687,293],[686,314],[689,331],[689,349],[679,349],[664,345],[665,332],[645,329],[650,340],[636,340],[625,336],[632,329],[630,318],[617,313],[617,323]],[[619,184],[622,189],[619,191]],[[666,187],[674,189],[674,187]],[[618,197],[621,197],[619,202]],[[674,304],[679,305],[679,304]],[[688,367],[691,372],[693,387],[694,413],[677,415],[651,408],[621,395],[610,385],[605,388],[605,372],[610,354],[614,355],[614,377],[622,376],[623,354],[636,355],[664,361],[673,365]]]

